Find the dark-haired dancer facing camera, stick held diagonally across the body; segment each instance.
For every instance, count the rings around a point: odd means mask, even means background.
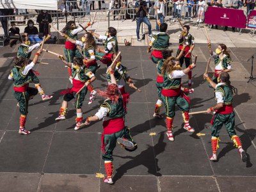
[[[60,57],[60,55],[58,55]],[[81,125],[81,122],[83,121],[83,101],[84,97],[87,93],[88,86],[91,82],[95,81],[94,74],[86,68],[85,65],[83,65],[83,58],[74,58],[74,63],[68,63],[63,58],[60,58],[63,63],[65,63],[68,67],[72,68],[72,81],[73,86],[68,92],[64,95],[63,102],[60,108],[60,116],[58,116],[55,120],[65,120],[65,115],[67,115],[67,109],[68,109],[68,101],[76,98],[75,100],[75,106],[76,106],[76,127],[75,130],[79,129],[79,125]],[[83,86],[86,85],[84,88]],[[81,90],[80,93],[77,94],[77,92]]]

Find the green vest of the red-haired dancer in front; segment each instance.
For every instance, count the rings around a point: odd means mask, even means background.
[[[122,96],[120,96],[120,98],[118,99],[118,102],[115,102],[115,103],[113,103],[111,100],[108,100],[108,99],[104,100],[101,107],[109,109],[108,116],[111,118],[121,118],[125,116],[125,113],[126,113]]]

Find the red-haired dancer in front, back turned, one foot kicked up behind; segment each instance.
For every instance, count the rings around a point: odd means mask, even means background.
[[[115,67],[115,66],[114,66]],[[113,68],[114,68],[113,67]],[[86,118],[86,125],[90,122],[103,120],[103,133],[102,133],[102,159],[105,163],[107,177],[104,182],[113,184],[113,150],[116,147],[116,141],[128,151],[134,151],[137,144],[133,141],[130,129],[125,126],[124,118],[127,113],[125,110],[125,103],[122,95],[118,90],[116,79],[114,76],[113,68],[109,68],[109,76],[111,77],[111,84],[105,92],[99,92],[99,95],[104,97],[103,104],[100,106],[99,111],[88,118]]]

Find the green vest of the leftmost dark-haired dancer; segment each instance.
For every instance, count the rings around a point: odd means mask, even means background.
[[[18,66],[12,68],[11,72],[13,74],[13,86],[20,87],[33,81],[33,77],[35,76],[35,74],[30,70],[28,74],[24,76],[22,74],[24,68],[25,67],[21,68]]]

